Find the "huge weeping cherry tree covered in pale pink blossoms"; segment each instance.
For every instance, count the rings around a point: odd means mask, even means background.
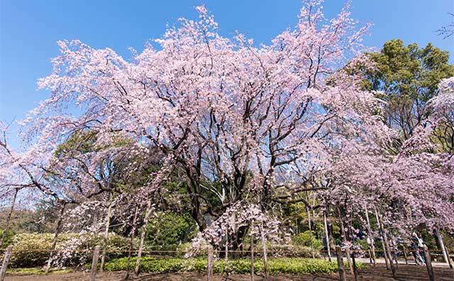
[[[409,217],[451,222],[452,180],[440,155],[421,146],[430,138],[391,152],[396,132],[382,120],[382,101],[345,67],[373,67],[361,55],[367,26],[358,28],[349,8],[326,19],[321,1],[306,1],[297,26],[270,45],[221,36],[204,6],[131,60],[59,41],[52,74],[38,82],[50,97],[22,122],[23,153],[1,143],[0,180],[77,204],[78,214],[103,206],[105,233],[111,212],[128,221],[143,211],[136,273],[148,220],[176,170],[199,226],[194,246],[239,248],[248,231],[277,239],[275,209],[297,202],[337,205],[345,217],[376,205],[384,224],[401,228]],[[439,99],[433,110],[444,112]]]

